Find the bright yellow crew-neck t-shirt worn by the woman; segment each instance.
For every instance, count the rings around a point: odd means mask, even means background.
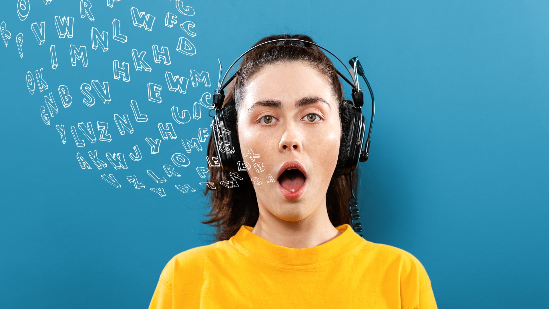
[[[436,308],[416,257],[367,241],[349,224],[305,249],[273,244],[252,229],[242,225],[229,240],[174,256],[149,309]]]

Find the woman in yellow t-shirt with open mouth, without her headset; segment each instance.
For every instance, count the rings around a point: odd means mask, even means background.
[[[281,38],[313,42],[275,35],[255,45]],[[333,63],[314,45],[279,42],[246,54],[225,97],[248,169],[210,168],[216,189],[206,189],[203,223],[215,225],[217,242],[173,257],[149,309],[436,308],[414,256],[349,224],[356,172],[338,175],[349,121]]]

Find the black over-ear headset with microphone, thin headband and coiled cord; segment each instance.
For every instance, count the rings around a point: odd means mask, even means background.
[[[231,68],[234,66],[234,64],[242,57],[244,57],[245,54],[247,54],[252,49],[278,41],[277,45],[298,45],[301,47],[306,47],[307,45],[315,45],[317,47],[320,47],[324,49],[324,51],[327,51],[332,56],[334,56],[336,59],[339,60],[341,64],[347,69],[346,65],[341,62],[341,60],[335,56],[332,52],[328,51],[328,49],[305,40],[300,40],[298,38],[281,38],[278,40],[271,40],[264,43],[260,43],[250,49],[248,51],[244,52],[240,57],[238,57],[234,62],[231,64],[231,67],[228,68],[228,70],[225,72],[225,75],[223,75],[223,79],[221,80],[221,62],[219,63],[219,79],[217,82],[217,89],[215,90],[214,96],[212,98],[212,101],[215,106],[215,116],[212,119],[212,135],[214,136],[214,145],[215,150],[217,153],[217,156],[219,157],[219,161],[221,163],[221,167],[226,170],[227,172],[238,172],[238,161],[243,161],[242,159],[242,153],[240,153],[240,145],[238,142],[238,133],[237,133],[237,126],[236,126],[236,104],[233,100],[227,102],[225,104],[225,107],[223,106],[223,101],[225,100],[225,87],[235,78],[236,74],[233,74],[231,78],[229,78],[225,84],[221,84],[221,82],[225,81],[225,78],[227,76],[227,73],[231,70]],[[219,61],[219,58],[217,59]],[[341,74],[337,69],[335,71],[337,74],[343,78],[349,85],[352,87],[352,101],[350,100],[343,100],[340,104],[340,117],[341,117],[341,125],[343,126],[342,134],[341,134],[341,142],[340,142],[340,149],[339,149],[339,157],[338,157],[338,163],[334,170],[333,177],[338,177],[341,175],[348,175],[350,174],[355,168],[358,162],[365,162],[368,159],[368,152],[370,148],[370,134],[372,132],[372,124],[374,120],[374,113],[375,113],[375,105],[374,105],[374,95],[372,92],[372,88],[369,85],[368,80],[366,79],[364,70],[362,69],[362,65],[360,62],[358,62],[358,58],[354,57],[351,60],[349,60],[349,64],[352,65],[355,75],[352,76],[352,79],[354,80],[354,83],[349,81],[343,74]],[[368,86],[368,90],[370,92],[370,96],[372,97],[372,118],[370,120],[370,127],[368,130],[368,138],[366,140],[366,145],[364,147],[364,150],[362,150],[362,145],[364,144],[364,133],[366,128],[365,118],[364,115],[362,115],[362,106],[364,104],[364,98],[363,93],[360,87],[358,87],[358,75],[362,76],[362,78],[365,80],[366,85]],[[221,85],[221,86],[220,86]],[[246,173],[247,174],[247,173]],[[352,196],[349,197],[349,206],[351,211],[351,225],[352,228],[357,233],[362,232],[361,224],[358,222],[354,222],[354,220],[360,219],[360,215],[358,214],[358,203],[356,202],[356,196],[354,193],[354,190],[352,190],[352,178],[351,178],[351,193]],[[362,235],[360,235],[362,236]]]

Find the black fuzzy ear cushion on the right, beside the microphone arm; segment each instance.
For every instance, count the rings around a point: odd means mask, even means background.
[[[348,165],[349,158],[351,157],[350,150],[352,148],[350,147],[350,139],[355,117],[355,108],[352,105],[352,101],[341,101],[341,104],[339,104],[339,117],[341,119],[341,141],[339,143],[339,157],[334,170],[334,178],[345,175],[345,169]]]

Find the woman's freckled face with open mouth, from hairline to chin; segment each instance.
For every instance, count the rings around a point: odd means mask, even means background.
[[[257,72],[240,102],[238,136],[250,178],[261,181],[253,182],[263,216],[294,222],[326,212],[341,122],[331,87],[315,69],[290,62]],[[250,149],[260,157],[253,161]]]

